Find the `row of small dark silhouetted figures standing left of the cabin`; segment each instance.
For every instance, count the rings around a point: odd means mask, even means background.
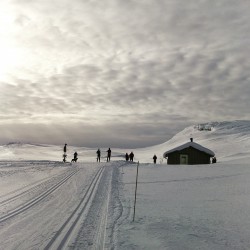
[[[67,144],[65,143],[64,145],[64,148],[63,148],[63,162],[66,162],[66,158],[67,158]],[[110,158],[111,158],[111,149],[109,148],[107,151],[107,162],[110,162]],[[100,162],[101,161],[101,150],[100,148],[98,148],[98,150],[96,151],[96,155],[97,155],[97,158],[96,158],[96,161],[97,162]],[[130,154],[126,153],[125,154],[125,160],[126,161],[134,161],[134,153],[131,152]],[[71,160],[71,162],[77,162],[78,160],[78,153],[75,152],[74,153],[74,158]],[[153,161],[154,163],[156,164],[156,160],[157,160],[157,156],[154,155],[153,156]]]

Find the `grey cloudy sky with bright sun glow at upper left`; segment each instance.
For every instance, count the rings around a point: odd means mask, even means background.
[[[0,144],[144,147],[250,119],[248,0],[2,0],[0,12]]]

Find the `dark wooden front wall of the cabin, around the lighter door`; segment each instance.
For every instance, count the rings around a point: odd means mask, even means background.
[[[209,164],[210,155],[193,147],[172,152],[168,155],[168,164],[180,164],[180,155],[188,155],[188,164]]]

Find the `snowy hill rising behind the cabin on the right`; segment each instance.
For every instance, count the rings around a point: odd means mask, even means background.
[[[190,138],[194,142],[211,149],[219,162],[233,160],[248,161],[250,158],[250,121],[225,121],[210,122],[202,125],[211,130],[199,130],[199,125],[185,128],[176,134],[169,141],[144,149],[134,150],[137,159],[143,162],[152,162],[154,154],[162,159],[165,151],[189,142]]]

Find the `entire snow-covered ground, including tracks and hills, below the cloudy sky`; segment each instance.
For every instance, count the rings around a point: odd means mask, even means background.
[[[161,145],[96,150],[0,146],[0,249],[250,249],[250,121],[191,126]],[[167,165],[193,137],[211,165]],[[133,151],[135,162],[124,161]],[[158,164],[152,164],[153,155]],[[134,212],[136,166],[139,164]]]

